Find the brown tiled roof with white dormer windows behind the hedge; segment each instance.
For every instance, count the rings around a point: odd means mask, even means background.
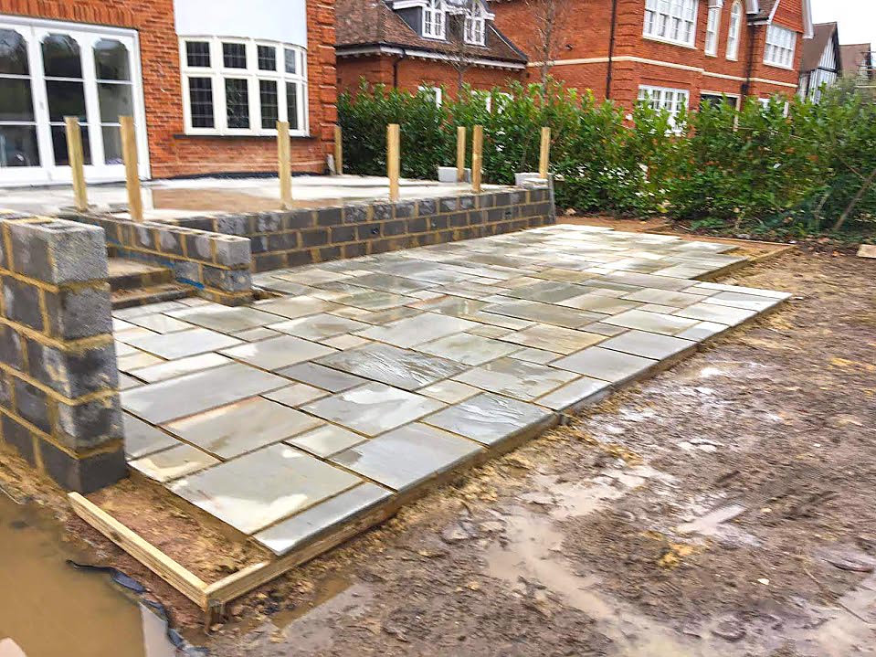
[[[448,40],[420,37],[417,32],[394,12],[384,0],[336,0],[335,46],[338,54],[344,48],[388,46],[416,48],[429,52],[453,55],[459,52],[459,40],[448,30]],[[496,59],[524,64],[526,57],[511,41],[487,21],[487,45],[466,45],[472,58]]]

